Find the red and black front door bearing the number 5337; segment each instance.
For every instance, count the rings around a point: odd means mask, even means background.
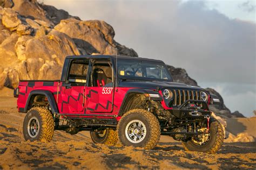
[[[113,69],[110,60],[93,60],[86,87],[86,114],[112,112]]]

